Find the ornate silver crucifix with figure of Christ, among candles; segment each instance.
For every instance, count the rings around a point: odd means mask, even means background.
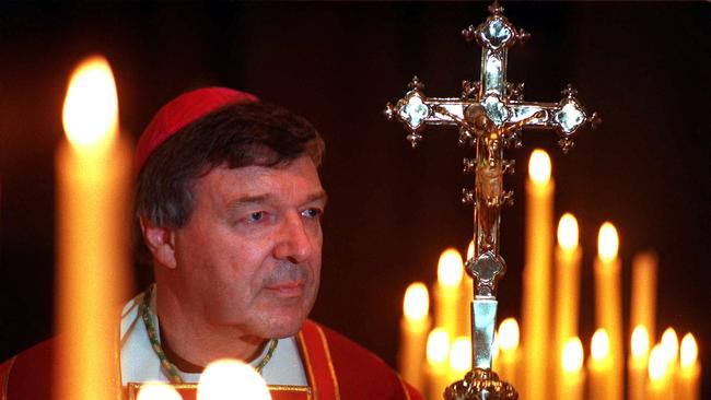
[[[471,145],[475,158],[464,158],[464,172],[475,174],[474,189],[463,190],[463,202],[474,203],[474,256],[466,271],[474,280],[471,301],[473,370],[447,388],[446,399],[515,399],[515,389],[491,372],[491,346],[497,317],[497,284],[506,271],[499,254],[501,205],[513,202],[513,192],[503,190],[503,174],[513,173],[514,163],[503,158],[504,148],[521,146],[521,129],[555,129],[563,152],[573,146],[579,129],[598,122],[588,115],[568,85],[558,103],[523,101],[523,84],[506,82],[506,55],[511,46],[529,35],[516,30],[503,16],[497,2],[491,15],[477,26],[462,32],[467,42],[482,47],[479,82],[464,81],[459,97],[427,97],[424,85],[412,79],[404,98],[387,104],[385,116],[397,118],[409,131],[415,148],[427,125],[455,125],[459,144]]]

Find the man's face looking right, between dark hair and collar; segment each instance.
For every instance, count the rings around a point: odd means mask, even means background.
[[[278,167],[218,167],[196,180],[175,232],[184,309],[244,336],[294,334],[320,273],[326,195],[307,156]]]

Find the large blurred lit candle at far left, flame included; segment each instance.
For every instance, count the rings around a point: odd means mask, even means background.
[[[62,110],[68,142],[57,152],[56,355],[59,399],[115,399],[116,327],[129,271],[131,176],[117,137],[110,67],[93,57],[74,71]],[[81,390],[78,390],[80,389]]]

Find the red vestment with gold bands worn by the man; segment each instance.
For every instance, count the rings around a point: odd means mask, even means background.
[[[0,364],[0,400],[51,399],[56,342],[57,339],[53,338]],[[308,389],[293,391],[270,387],[275,400],[422,399],[382,360],[313,321],[304,322],[299,332],[299,346]],[[194,388],[186,387],[182,395],[186,400],[193,399]]]

